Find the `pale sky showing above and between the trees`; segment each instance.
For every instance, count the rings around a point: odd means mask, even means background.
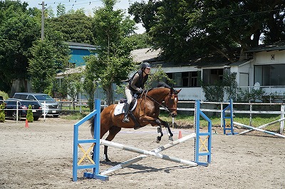
[[[41,9],[42,1],[38,0],[21,0],[22,2],[27,2],[29,7],[36,7]],[[130,4],[133,4],[135,1],[142,1],[142,0],[118,0],[118,3],[115,4],[115,9],[123,9],[126,13],[128,13],[128,7]],[[66,11],[70,9],[81,9],[84,8],[87,15],[93,14],[93,9],[103,6],[102,1],[100,0],[46,0],[44,1],[46,7],[52,7],[53,13],[56,15],[56,6],[58,4],[64,4],[66,6]],[[145,32],[145,29],[142,27],[142,24],[137,24],[138,30],[135,32],[137,34],[142,34]]]

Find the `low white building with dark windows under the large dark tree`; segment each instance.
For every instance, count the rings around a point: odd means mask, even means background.
[[[182,88],[181,100],[204,100],[199,78],[211,85],[214,81],[222,80],[224,73],[237,73],[240,91],[250,92],[261,88],[265,92],[264,99],[269,97],[271,101],[271,96],[274,96],[275,101],[284,102],[285,75],[282,73],[285,71],[285,41],[261,45],[246,54],[244,61],[235,63],[212,54],[204,58],[192,58],[187,63],[173,64],[162,61],[159,51],[150,51],[148,48],[133,51],[135,61],[147,61],[153,66],[162,65],[165,73],[175,80],[173,87]]]

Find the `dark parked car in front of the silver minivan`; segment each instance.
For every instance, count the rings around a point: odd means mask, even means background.
[[[16,120],[18,111],[18,118],[26,118],[29,105],[31,105],[33,120],[37,121],[43,114],[41,104],[38,101],[25,101],[16,98],[9,98],[5,101],[5,117]]]

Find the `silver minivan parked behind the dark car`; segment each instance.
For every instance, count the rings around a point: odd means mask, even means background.
[[[51,96],[45,93],[15,93],[13,98],[19,98],[28,101],[38,101],[43,108],[43,114],[57,118],[61,110],[59,104]],[[46,105],[46,108],[44,107]]]

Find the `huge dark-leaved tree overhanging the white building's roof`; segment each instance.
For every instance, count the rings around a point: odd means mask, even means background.
[[[154,48],[161,48],[162,55],[175,62],[213,52],[234,62],[260,40],[285,39],[283,0],[270,4],[265,0],[163,0],[138,5],[133,4],[129,13],[150,27]],[[146,12],[147,6],[152,11]],[[145,21],[145,17],[154,19]]]

